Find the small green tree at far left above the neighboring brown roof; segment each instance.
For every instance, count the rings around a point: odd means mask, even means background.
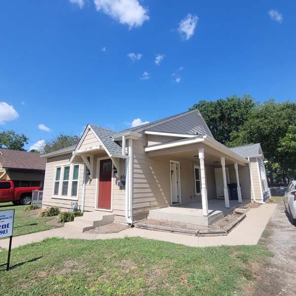
[[[0,132],[0,148],[24,151],[25,144],[28,144],[29,138],[24,134],[16,134],[14,131]]]

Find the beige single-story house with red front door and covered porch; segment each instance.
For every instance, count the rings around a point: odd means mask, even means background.
[[[112,212],[117,222],[191,202],[201,202],[201,215],[209,216],[210,199],[229,208],[228,184],[235,184],[238,202],[268,195],[260,145],[226,148],[198,110],[122,132],[88,124],[76,146],[42,157],[44,207],[66,210],[77,202],[82,211]]]

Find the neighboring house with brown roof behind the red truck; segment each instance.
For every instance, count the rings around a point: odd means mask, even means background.
[[[42,186],[46,160],[40,154],[0,148],[0,180],[16,187]]]

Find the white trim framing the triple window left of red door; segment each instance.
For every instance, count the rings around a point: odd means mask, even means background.
[[[73,167],[74,165],[78,165],[78,182],[77,182],[77,196],[71,196],[72,192],[72,181],[73,181]],[[62,194],[62,188],[63,188],[63,182],[67,180],[64,179],[64,169],[65,167],[70,166],[70,172],[69,172],[69,184],[68,184],[68,194],[67,195],[61,195]],[[54,185],[55,185],[55,176],[56,176],[56,169],[61,168],[61,175],[60,175],[60,184],[59,184],[59,195],[54,195]],[[66,199],[66,200],[73,200],[73,201],[78,201],[78,196],[79,196],[79,180],[80,180],[80,164],[79,163],[74,163],[74,164],[64,164],[64,165],[56,165],[54,169],[54,181],[53,181],[53,188],[52,188],[52,195],[51,198],[55,199]]]

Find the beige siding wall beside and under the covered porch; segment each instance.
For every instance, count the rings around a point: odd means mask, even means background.
[[[142,135],[133,144],[133,213],[142,219],[148,211],[171,205],[170,160],[180,162],[181,199],[182,203],[201,200],[195,195],[194,162],[163,155],[161,157],[148,157],[144,151],[147,136]],[[198,165],[198,163],[195,163]],[[215,198],[214,168],[206,166],[206,181],[208,198]]]

